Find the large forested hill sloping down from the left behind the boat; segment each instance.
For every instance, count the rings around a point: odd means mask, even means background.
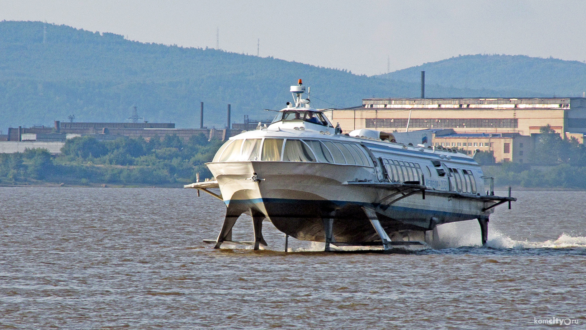
[[[429,76],[429,97],[536,94],[441,87],[440,81],[431,80],[431,72]],[[76,121],[126,121],[133,105],[145,120],[196,127],[200,101],[206,107],[205,124],[223,127],[228,103],[233,123],[241,122],[243,114],[272,117],[261,109],[283,107],[291,98],[289,85],[299,78],[311,86],[312,104],[319,108],[420,93],[418,82],[357,76],[272,57],[133,42],[113,33],[42,22],[0,22],[0,130],[51,125],[70,114]]]

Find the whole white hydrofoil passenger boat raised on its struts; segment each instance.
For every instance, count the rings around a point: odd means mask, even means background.
[[[247,243],[254,249],[266,246],[264,220],[296,239],[325,242],[326,251],[430,243],[437,226],[471,219],[486,244],[494,208],[516,200],[510,190],[508,197],[485,192],[481,166],[468,155],[390,142],[392,135],[379,131],[342,134],[302,98],[301,79],[291,93],[294,103],[268,127],[259,124],[222,145],[206,164],[215,179],[185,186],[227,207],[216,249],[232,240],[243,213],[253,218],[255,240]]]

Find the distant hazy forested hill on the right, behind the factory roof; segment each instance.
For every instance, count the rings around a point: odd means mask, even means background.
[[[524,55],[465,55],[398,70],[379,77],[425,80],[455,88],[526,90],[544,96],[581,97],[586,91],[586,63]]]

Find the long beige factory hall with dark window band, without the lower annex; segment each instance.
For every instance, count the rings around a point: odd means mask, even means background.
[[[335,109],[332,122],[345,131],[454,128],[456,132],[520,135],[539,133],[541,126],[586,133],[586,98],[365,98],[361,107]]]

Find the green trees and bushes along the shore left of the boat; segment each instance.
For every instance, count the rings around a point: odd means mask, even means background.
[[[204,165],[212,161],[222,141],[208,141],[203,134],[183,141],[164,138],[118,138],[98,141],[76,137],[65,142],[62,154],[46,149],[26,149],[0,154],[0,183],[55,182],[73,185],[165,185],[190,183],[196,173],[212,176]]]

